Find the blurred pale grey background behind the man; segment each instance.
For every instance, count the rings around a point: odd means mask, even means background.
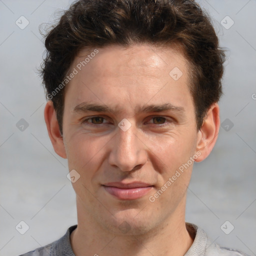
[[[67,161],[48,138],[36,73],[44,50],[38,25],[52,22],[70,2],[0,0],[0,256],[45,245],[77,223]],[[212,241],[256,255],[256,1],[198,2],[228,49],[219,105],[221,122],[229,119],[222,126],[233,127],[221,127],[212,153],[194,164],[186,221]],[[29,21],[24,29],[15,24],[21,15]],[[229,29],[221,25],[226,15],[234,21]],[[21,118],[28,123],[23,131],[16,126]],[[29,226],[23,235],[15,229],[21,220]],[[234,226],[229,234],[220,228],[226,220]]]

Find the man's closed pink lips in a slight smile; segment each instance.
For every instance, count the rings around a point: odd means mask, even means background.
[[[120,200],[134,200],[146,195],[153,188],[153,185],[144,182],[109,182],[103,184],[103,188]]]

